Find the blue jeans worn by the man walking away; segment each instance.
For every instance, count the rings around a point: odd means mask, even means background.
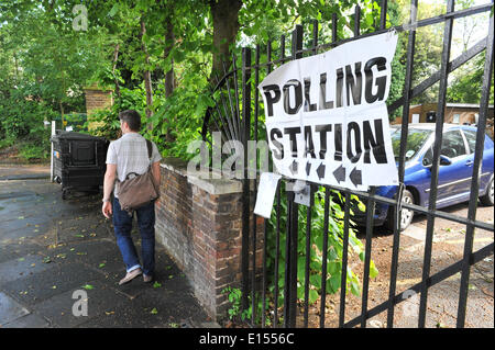
[[[142,270],[144,274],[152,275],[155,269],[155,203],[152,202],[142,206],[133,213],[136,213],[141,234]],[[122,253],[128,272],[141,268],[131,237],[133,216],[134,214],[131,216],[120,207],[119,199],[113,199],[113,228],[116,230],[117,245]]]

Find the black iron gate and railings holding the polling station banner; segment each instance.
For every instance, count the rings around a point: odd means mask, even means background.
[[[248,309],[251,306],[251,325],[252,326],[273,326],[278,327],[279,325],[279,309],[283,308],[283,323],[284,327],[295,327],[298,309],[298,296],[297,296],[297,283],[298,283],[298,252],[297,245],[299,235],[305,235],[306,238],[306,261],[305,261],[305,278],[299,279],[299,283],[304,283],[304,303],[302,303],[302,326],[308,326],[308,295],[309,295],[309,255],[310,255],[310,235],[311,235],[311,210],[314,206],[315,193],[319,189],[324,190],[324,224],[323,224],[323,241],[322,241],[322,269],[321,269],[321,302],[320,302],[320,327],[324,327],[326,321],[326,297],[327,297],[327,261],[328,261],[328,235],[329,235],[329,202],[331,193],[336,191],[341,194],[343,200],[343,235],[340,237],[343,244],[342,252],[342,269],[340,271],[341,282],[340,285],[346,285],[348,278],[348,252],[349,252],[349,232],[350,232],[350,215],[351,215],[351,197],[358,195],[366,203],[366,228],[365,228],[365,247],[364,247],[364,274],[362,284],[362,303],[361,303],[361,315],[354,317],[353,319],[346,320],[345,316],[345,297],[346,287],[340,287],[340,307],[339,307],[339,327],[354,327],[361,326],[366,327],[366,320],[383,313],[387,312],[387,327],[393,327],[394,325],[394,307],[400,302],[407,300],[405,292],[397,293],[397,268],[399,258],[399,244],[400,244],[400,229],[398,227],[399,213],[402,207],[413,210],[416,213],[422,213],[427,216],[427,229],[426,229],[426,241],[425,241],[425,253],[424,253],[424,264],[422,264],[422,275],[421,281],[408,291],[414,291],[420,294],[419,301],[419,318],[418,326],[425,327],[426,325],[426,314],[427,314],[427,301],[428,301],[428,290],[438,284],[441,281],[454,275],[455,273],[461,273],[461,284],[459,291],[459,307],[457,326],[464,327],[465,313],[466,313],[466,300],[468,290],[470,281],[470,267],[474,263],[480,262],[486,257],[493,255],[494,244],[491,242],[484,248],[473,252],[473,240],[474,240],[474,229],[481,228],[490,232],[494,232],[494,225],[485,222],[476,221],[476,208],[477,208],[477,196],[480,188],[480,169],[483,158],[484,149],[484,135],[486,129],[486,117],[487,108],[490,99],[490,88],[491,78],[493,75],[493,44],[494,44],[494,21],[493,16],[490,20],[488,35],[480,41],[477,44],[472,46],[470,49],[461,54],[454,59],[450,59],[451,43],[452,43],[452,31],[453,22],[457,19],[474,15],[482,12],[493,13],[493,4],[487,3],[483,5],[472,7],[470,9],[455,11],[454,1],[449,0],[447,4],[447,12],[444,14],[432,16],[425,20],[417,20],[417,9],[418,0],[411,0],[410,8],[410,19],[409,23],[395,27],[386,27],[386,12],[387,12],[387,1],[383,0],[381,4],[381,20],[376,30],[373,33],[366,33],[360,35],[360,15],[361,9],[355,7],[355,20],[354,20],[354,36],[349,38],[339,38],[337,36],[337,21],[336,14],[332,16],[331,29],[332,29],[332,41],[331,43],[319,43],[319,32],[318,32],[318,21],[312,22],[312,33],[309,34],[312,37],[312,43],[309,47],[302,47],[304,32],[301,25],[296,25],[296,29],[292,33],[292,54],[286,55],[286,37],[282,35],[279,42],[279,55],[274,58],[272,50],[272,42],[266,43],[266,61],[261,63],[261,47],[256,46],[254,50],[254,63],[252,61],[252,49],[242,48],[242,63],[238,67],[237,57],[233,55],[230,64],[224,64],[224,75],[218,79],[218,83],[213,90],[213,95],[216,99],[215,108],[208,110],[207,115],[204,121],[202,136],[204,139],[209,140],[212,131],[219,131],[222,134],[222,140],[240,140],[244,146],[244,159],[248,159],[248,140],[254,139],[258,140],[258,132],[262,129],[263,125],[258,124],[260,116],[260,101],[258,93],[256,89],[252,89],[252,84],[255,87],[261,81],[261,76],[271,72],[277,65],[284,64],[288,60],[294,60],[308,55],[316,55],[319,52],[324,52],[341,45],[343,43],[381,34],[387,31],[396,32],[407,32],[408,33],[408,45],[407,45],[407,61],[406,61],[406,78],[404,84],[403,97],[392,102],[388,105],[388,112],[393,112],[400,106],[403,108],[403,118],[402,118],[402,137],[400,137],[400,150],[399,150],[399,161],[398,161],[398,176],[399,182],[404,183],[405,176],[405,159],[406,159],[406,143],[407,143],[407,131],[408,131],[408,115],[410,101],[422,93],[428,88],[432,87],[435,83],[439,82],[439,97],[437,105],[437,120],[435,127],[436,142],[433,145],[433,163],[431,168],[431,184],[429,194],[429,205],[428,207],[421,207],[415,204],[408,204],[400,201],[400,199],[388,199],[384,196],[376,195],[375,188],[371,188],[369,192],[358,192],[351,191],[344,188],[324,185],[321,187],[317,183],[310,183],[310,203],[307,207],[307,219],[306,219],[306,230],[300,232],[299,229],[299,204],[295,202],[295,192],[287,191],[287,211],[284,214],[283,211],[283,191],[282,187],[287,185],[293,180],[284,179],[283,183],[279,184],[276,191],[275,200],[275,221],[274,230],[268,230],[267,222],[265,221],[264,235],[257,237],[256,234],[256,217],[252,215],[251,210],[255,200],[256,193],[256,181],[253,181],[254,191],[250,192],[250,180],[248,179],[248,167],[244,166],[244,177],[243,177],[243,222],[242,222],[242,307]],[[413,67],[414,67],[414,55],[415,55],[415,41],[416,41],[416,29],[433,25],[438,23],[444,23],[443,30],[443,47],[441,55],[441,66],[440,70],[430,75],[426,80],[420,82],[418,86],[413,87]],[[447,99],[447,86],[449,74],[458,69],[461,65],[465,64],[472,59],[477,54],[485,52],[485,64],[484,74],[482,82],[482,94],[480,102],[480,113],[479,113],[479,124],[475,144],[475,157],[473,173],[471,180],[471,196],[469,202],[469,213],[468,217],[460,217],[457,215],[449,214],[447,212],[437,210],[437,184],[438,184],[438,173],[439,173],[439,159],[440,159],[440,147],[442,142],[442,131],[444,122],[444,110],[446,110],[446,99]],[[231,66],[230,66],[231,65]],[[228,70],[228,66],[231,67]],[[254,90],[254,93],[253,93]],[[253,111],[254,109],[254,111]],[[211,142],[210,142],[211,144]],[[398,191],[400,193],[400,191]],[[388,298],[386,302],[369,308],[369,283],[370,283],[370,261],[371,261],[371,249],[372,249],[372,236],[374,227],[374,208],[375,203],[385,203],[394,208],[394,228],[393,228],[393,251],[392,251],[392,262],[391,262],[391,280],[389,280],[389,291]],[[431,257],[432,257],[432,244],[433,244],[433,225],[437,217],[446,218],[455,223],[466,225],[465,241],[464,241],[464,253],[460,261],[449,266],[448,268],[430,274]],[[282,232],[280,223],[286,222],[285,233]],[[286,235],[285,247],[280,247],[280,237]],[[268,237],[268,235],[275,235],[275,237]],[[268,239],[275,238],[275,257],[271,274],[268,275],[267,260],[268,253],[273,255],[273,251],[267,251]],[[262,247],[262,262],[256,261],[256,246],[263,244]],[[284,251],[282,250],[284,249]],[[280,267],[279,253],[285,253],[285,264]],[[261,266],[260,269],[256,267]],[[284,283],[279,285],[278,276],[279,269],[284,270]],[[272,286],[268,285],[271,281]],[[270,292],[268,292],[270,291]],[[278,295],[283,294],[283,305],[278,305]],[[272,307],[268,312],[267,302],[268,294],[275,295],[272,297]],[[257,305],[261,304],[261,312],[257,311]]]

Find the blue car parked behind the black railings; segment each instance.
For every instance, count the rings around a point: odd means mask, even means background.
[[[393,126],[392,143],[396,159],[400,148],[400,127]],[[428,207],[430,197],[431,165],[433,159],[435,124],[410,124],[408,127],[405,190],[403,202]],[[468,125],[444,124],[440,167],[438,177],[437,208],[466,202],[470,199],[473,173],[476,128]],[[494,143],[485,135],[483,165],[480,177],[480,201],[494,205]],[[376,194],[394,197],[397,187],[380,187]],[[393,208],[376,203],[374,224],[393,227]],[[414,211],[404,208],[400,213],[400,230],[413,221]],[[354,221],[365,223],[363,212],[354,210]]]

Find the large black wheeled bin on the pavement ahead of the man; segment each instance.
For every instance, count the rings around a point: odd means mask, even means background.
[[[52,136],[54,179],[62,183],[62,199],[72,190],[99,191],[103,185],[108,145],[103,137],[74,132]]]

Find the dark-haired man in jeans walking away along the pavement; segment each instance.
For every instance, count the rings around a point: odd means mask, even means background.
[[[134,211],[141,234],[141,256],[143,260],[141,266],[131,237],[133,214],[130,215],[120,206],[119,181],[124,181],[131,172],[138,174],[146,172],[151,161],[153,178],[160,184],[160,160],[162,156],[156,145],[152,143],[152,156],[151,159],[148,158],[146,139],[139,134],[141,115],[136,111],[123,111],[119,114],[119,118],[122,137],[110,143],[108,148],[101,211],[107,218],[112,215],[117,245],[125,263],[127,274],[119,284],[128,283],[140,274],[143,274],[144,282],[151,282],[155,268],[155,202]],[[118,180],[117,185],[114,185],[116,180]],[[112,191],[113,206],[111,202]]]

